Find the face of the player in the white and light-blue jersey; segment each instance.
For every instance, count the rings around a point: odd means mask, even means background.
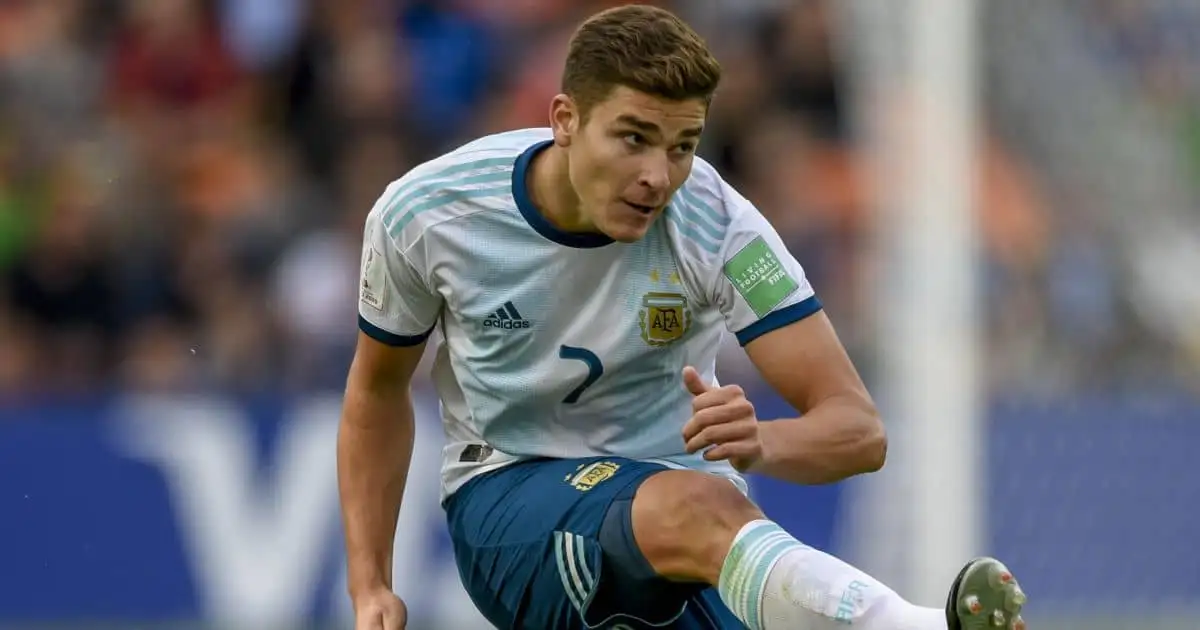
[[[620,242],[644,236],[691,174],[707,110],[624,86],[593,106],[568,149],[582,218]]]

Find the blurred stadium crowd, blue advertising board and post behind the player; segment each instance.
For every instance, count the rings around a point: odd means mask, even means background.
[[[541,125],[611,4],[0,0],[0,628],[344,625],[362,218]],[[1200,4],[670,6],[726,66],[703,154],[893,432],[871,479],[755,480],[768,514],[923,604],[989,552],[1032,628],[1200,628]],[[481,628],[420,388],[397,589]]]

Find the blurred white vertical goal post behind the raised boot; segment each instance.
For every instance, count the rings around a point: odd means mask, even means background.
[[[912,457],[911,596],[944,599],[984,551],[984,404],[979,378],[976,0],[910,0],[910,178],[898,178],[895,281],[884,341],[895,413]]]

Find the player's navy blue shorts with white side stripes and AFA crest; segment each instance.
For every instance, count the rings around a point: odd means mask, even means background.
[[[535,460],[470,480],[445,508],[475,606],[500,630],[744,630],[716,589],[653,575],[628,523],[600,535],[610,506],[628,521],[637,487],[665,469]]]

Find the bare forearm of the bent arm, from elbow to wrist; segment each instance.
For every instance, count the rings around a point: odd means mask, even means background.
[[[887,437],[875,408],[829,400],[803,418],[760,425],[763,458],[751,472],[794,484],[832,484],[883,467]]]

